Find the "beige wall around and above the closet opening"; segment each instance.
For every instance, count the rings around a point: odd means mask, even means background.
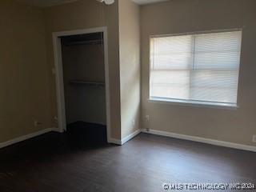
[[[46,17],[48,71],[50,77],[50,115],[57,116],[55,77],[50,74],[54,68],[52,33],[63,30],[88,29],[98,26],[108,27],[109,76],[110,76],[110,126],[111,137],[121,138],[120,130],[120,81],[118,54],[118,2],[111,6],[95,0],[80,0],[44,10]],[[53,126],[57,126],[54,121]]]

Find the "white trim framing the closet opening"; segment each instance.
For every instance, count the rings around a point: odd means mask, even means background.
[[[66,112],[65,112],[65,97],[64,97],[64,82],[62,68],[62,44],[61,37],[75,34],[91,34],[103,33],[104,38],[104,60],[105,60],[105,83],[106,83],[106,132],[107,141],[110,142],[110,79],[109,79],[109,59],[108,59],[108,42],[106,26],[98,28],[90,28],[85,30],[66,30],[53,33],[54,43],[54,66],[56,76],[56,91],[58,103],[58,129],[60,132],[66,130]]]

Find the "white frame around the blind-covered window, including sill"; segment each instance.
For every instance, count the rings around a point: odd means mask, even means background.
[[[213,33],[222,33],[222,32],[234,32],[234,31],[241,31],[242,28],[234,28],[229,30],[205,30],[205,31],[196,31],[196,32],[189,32],[189,33],[178,33],[178,34],[160,34],[160,35],[150,35],[149,42],[151,38],[164,38],[164,37],[174,37],[174,36],[182,36],[182,35],[192,35],[192,34],[213,34]],[[241,45],[242,49],[242,45]],[[170,104],[170,105],[178,105],[178,106],[196,106],[196,107],[208,107],[208,108],[217,108],[217,109],[225,109],[225,110],[237,110],[239,108],[239,79],[240,79],[240,70],[241,70],[241,55],[242,50],[240,53],[240,65],[238,69],[238,100],[237,103],[227,103],[227,102],[204,102],[204,101],[196,101],[196,100],[186,100],[186,99],[176,99],[176,98],[157,98],[157,97],[150,97],[150,78],[151,78],[151,69],[149,67],[149,90],[148,90],[148,102],[151,103],[162,103],[162,104]],[[150,50],[149,50],[150,55]],[[151,56],[151,55],[150,55]],[[151,57],[150,57],[150,64],[151,64]]]

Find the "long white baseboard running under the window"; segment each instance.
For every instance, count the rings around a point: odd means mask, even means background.
[[[184,139],[192,142],[202,142],[202,143],[206,143],[214,146],[225,146],[225,147],[234,148],[237,150],[249,150],[249,151],[256,152],[256,146],[247,146],[247,145],[242,145],[234,142],[223,142],[223,141],[218,141],[210,138],[194,137],[186,134],[174,134],[174,133],[166,132],[162,130],[147,131],[146,129],[142,129],[142,133],[157,134],[157,135],[166,136],[169,138],[179,138],[179,139]]]

